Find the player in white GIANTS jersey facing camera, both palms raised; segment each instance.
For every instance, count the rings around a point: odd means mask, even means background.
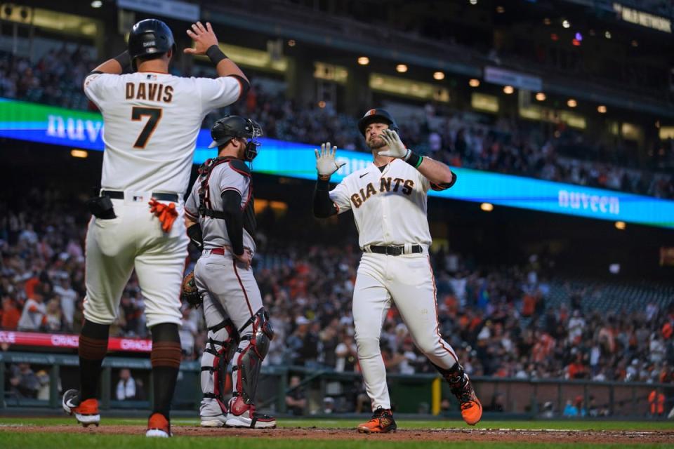
[[[353,320],[360,368],[374,414],[357,429],[364,433],[396,429],[379,348],[381,326],[391,304],[407,324],[416,347],[449,382],[463,420],[476,424],[482,417],[482,404],[454,349],[440,335],[428,255],[428,189],[449,189],[456,175],[444,163],[407,149],[395,120],[384,109],[370,109],[358,128],[372,150],[373,163],[330,190],[330,176],[340,166],[335,161],[336,147],[331,148],[329,142],[322,145],[316,150],[319,178],[314,196],[316,217],[353,211],[363,251],[353,292]]]

